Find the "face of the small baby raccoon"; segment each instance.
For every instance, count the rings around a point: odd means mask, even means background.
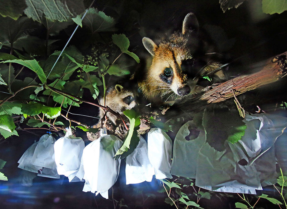
[[[117,94],[119,96],[119,105],[123,106],[123,109],[132,109],[135,107],[136,102],[135,102],[135,96],[132,91],[129,91],[123,86],[117,84],[115,86],[115,89],[117,91]]]

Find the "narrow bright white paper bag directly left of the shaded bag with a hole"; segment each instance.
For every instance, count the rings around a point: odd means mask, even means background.
[[[148,158],[157,179],[172,178],[170,174],[172,141],[160,128],[148,132]]]

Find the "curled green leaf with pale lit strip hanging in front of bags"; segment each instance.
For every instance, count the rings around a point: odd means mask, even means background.
[[[134,110],[125,110],[123,113],[129,119],[130,127],[122,146],[115,154],[116,159],[119,157],[121,157],[121,159],[127,157],[133,152],[139,143],[137,130],[139,129],[139,125],[141,123],[139,119],[140,115]]]

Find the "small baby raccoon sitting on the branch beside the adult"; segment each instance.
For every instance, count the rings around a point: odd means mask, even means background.
[[[104,98],[100,99],[100,105],[104,105]],[[113,111],[124,115],[123,111],[130,110],[135,107],[135,96],[131,90],[124,88],[123,86],[117,84],[111,87],[106,92],[106,106],[108,106]],[[113,113],[108,112],[106,114],[107,118],[112,121],[115,125],[121,125],[121,122],[117,121],[117,116]],[[104,111],[100,108],[99,118],[104,117]],[[98,124],[94,125],[92,128],[100,128],[101,120]]]

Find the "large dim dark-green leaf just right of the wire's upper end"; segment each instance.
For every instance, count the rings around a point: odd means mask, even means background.
[[[104,12],[98,11],[95,8],[90,8],[86,16],[82,20],[82,24],[89,28],[91,33],[101,31],[115,31],[115,20],[113,17],[105,15]]]

